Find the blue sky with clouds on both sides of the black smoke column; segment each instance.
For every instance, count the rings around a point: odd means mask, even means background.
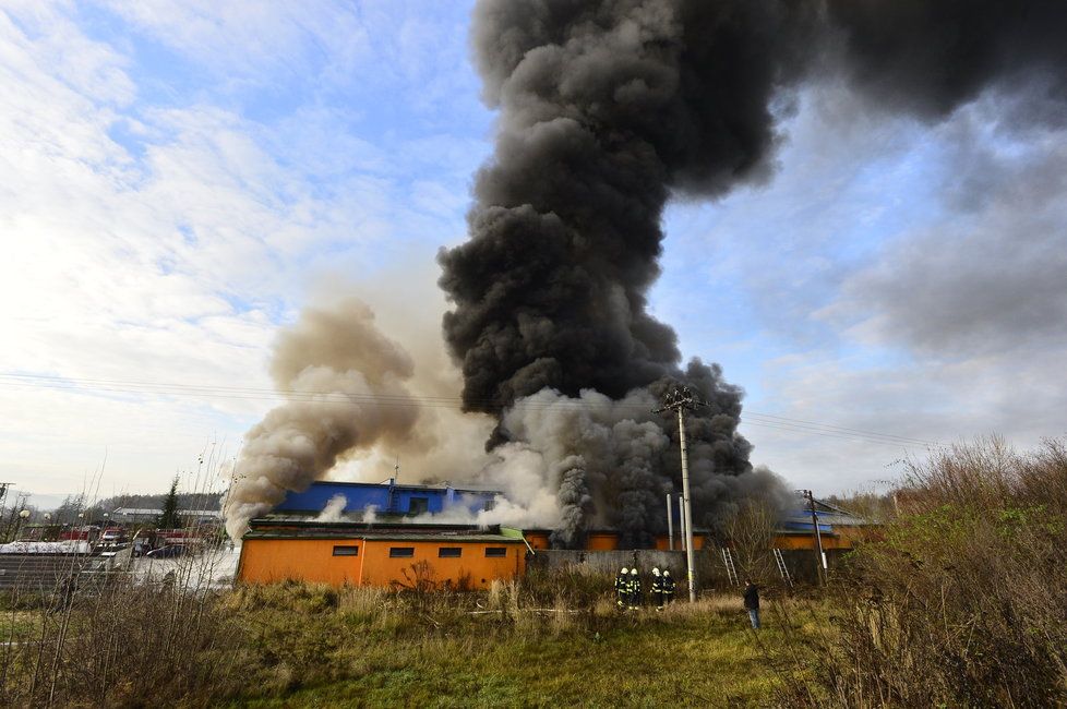
[[[492,152],[469,11],[4,3],[0,374],[77,387],[0,381],[0,479],[76,491],[106,452],[101,494],[157,491],[209,441],[235,454],[267,398],[85,381],[268,388],[275,329],[332,291],[446,362],[433,255],[464,238]],[[924,452],[826,426],[1063,435],[1067,218],[1048,176],[1067,142],[1012,129],[1006,101],[932,125],[808,85],[767,184],[669,207],[654,311],[750,411],[819,424],[746,418],[755,461],[829,493]]]

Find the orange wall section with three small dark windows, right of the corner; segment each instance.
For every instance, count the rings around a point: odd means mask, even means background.
[[[413,546],[415,556],[392,558],[391,546]],[[437,556],[437,550],[442,546],[459,546],[463,556],[441,558]],[[507,555],[487,557],[488,546],[503,546],[507,550]],[[416,577],[412,566],[419,562],[427,562],[430,565],[432,575],[429,578],[435,584],[445,581],[458,584],[460,579],[467,577],[471,588],[488,588],[494,578],[511,579],[523,574],[526,568],[526,544],[372,540],[367,542],[362,584],[389,586],[393,581],[397,581],[410,585]],[[405,578],[405,572],[408,578]]]

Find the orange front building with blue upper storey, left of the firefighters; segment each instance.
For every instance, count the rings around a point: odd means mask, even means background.
[[[526,569],[530,551],[517,530],[499,526],[415,524],[424,514],[492,509],[497,491],[471,486],[314,482],[253,519],[237,579],[299,579],[334,586],[487,588]],[[344,506],[336,500],[344,498]],[[334,502],[332,502],[334,501]],[[323,515],[327,505],[333,514]]]

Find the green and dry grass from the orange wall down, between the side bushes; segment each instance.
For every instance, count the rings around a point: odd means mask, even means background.
[[[307,591],[244,593],[288,592]],[[588,608],[559,598],[529,605],[527,593],[500,584],[467,598],[441,596],[428,610],[435,623],[409,613],[412,601],[403,596],[340,602],[300,616],[300,627],[288,614],[257,608],[261,645],[274,657],[250,676],[255,689],[230,705],[766,706],[784,677],[771,669],[782,664],[779,620],[771,614],[768,629],[754,635],[736,598],[621,613],[607,598]],[[347,608],[359,609],[355,624]],[[807,630],[798,625],[790,633]]]

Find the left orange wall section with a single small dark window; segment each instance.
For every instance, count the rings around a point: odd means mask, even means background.
[[[334,556],[334,546],[359,546],[359,556]],[[245,539],[238,578],[271,584],[289,578],[312,584],[358,585],[363,561],[361,539]]]

